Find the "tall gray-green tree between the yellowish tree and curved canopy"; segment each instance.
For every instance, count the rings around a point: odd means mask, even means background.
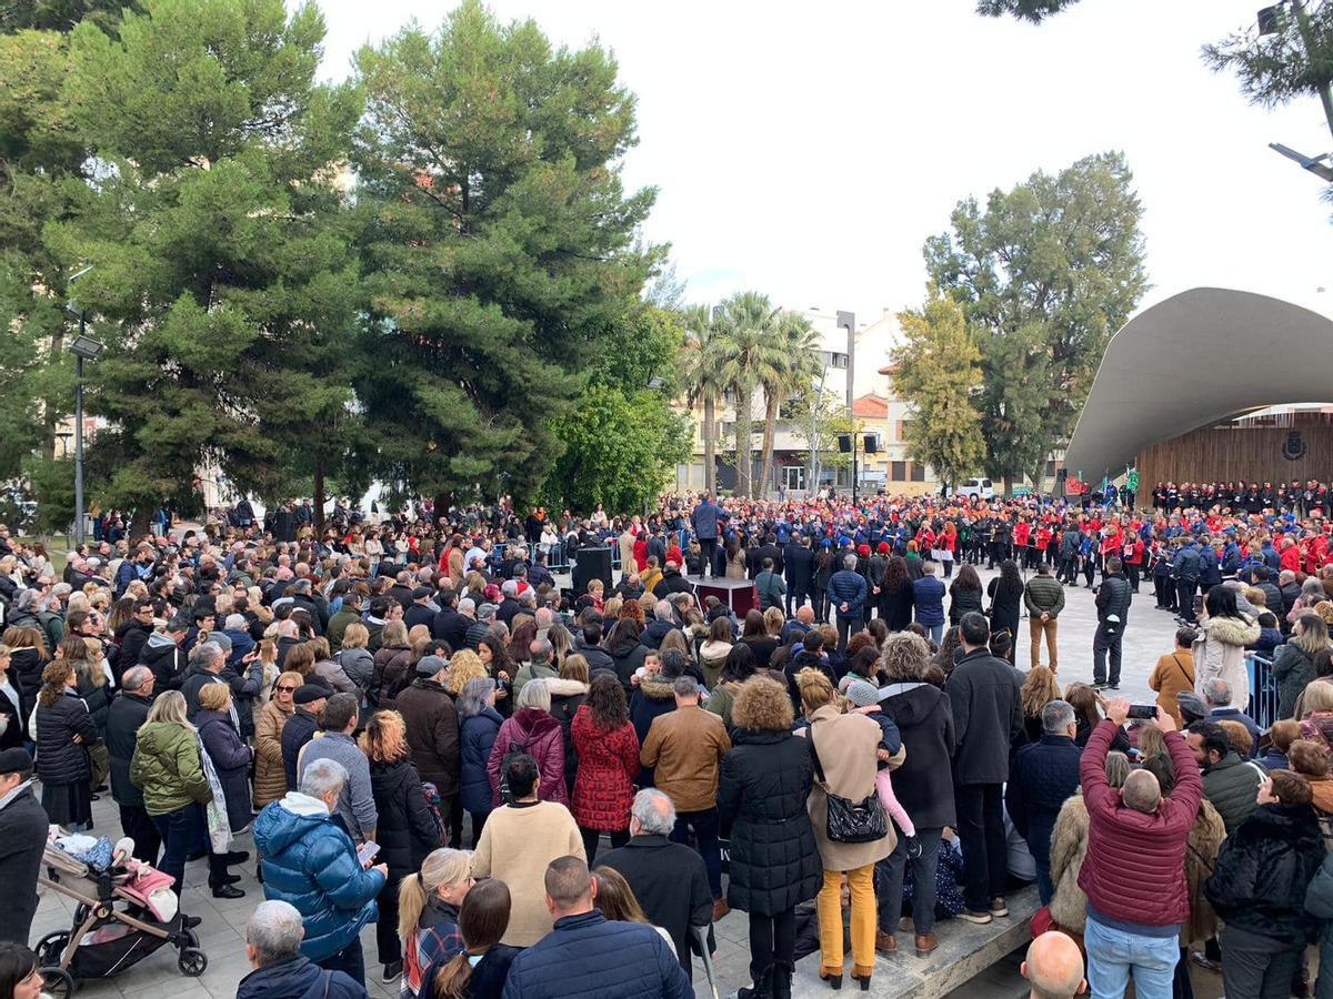
[[[1026,474],[1073,433],[1110,334],[1148,288],[1141,217],[1129,165],[1112,152],[1038,170],[992,192],[985,209],[961,201],[950,232],[926,240],[932,285],[982,336],[993,476]],[[1021,418],[1004,402],[1014,390],[1030,397]]]

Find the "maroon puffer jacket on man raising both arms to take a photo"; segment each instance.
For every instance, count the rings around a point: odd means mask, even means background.
[[[1166,733],[1176,787],[1152,815],[1134,811],[1106,783],[1106,750],[1118,731],[1114,722],[1102,721],[1078,763],[1089,819],[1078,887],[1089,906],[1112,919],[1138,926],[1184,923],[1189,919],[1185,843],[1204,798],[1198,763],[1180,733]]]

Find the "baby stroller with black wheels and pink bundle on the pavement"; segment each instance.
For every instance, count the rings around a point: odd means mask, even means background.
[[[105,848],[105,840],[103,840]],[[37,940],[37,966],[53,999],[69,999],[81,979],[111,978],[137,964],[164,943],[180,954],[176,967],[199,978],[208,956],[177,911],[172,878],[129,858],[131,840],[120,840],[107,870],[48,842],[45,876],[37,883],[72,898],[73,924]]]

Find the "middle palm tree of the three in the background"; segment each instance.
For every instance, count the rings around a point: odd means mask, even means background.
[[[717,320],[717,368],[736,397],[736,493],[750,496],[754,473],[753,408],[761,376],[782,365],[774,329],[780,310],[766,294],[738,292],[722,302]]]

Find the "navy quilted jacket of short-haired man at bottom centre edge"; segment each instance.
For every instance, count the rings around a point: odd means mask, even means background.
[[[688,999],[694,992],[653,927],[564,916],[509,966],[504,999]]]

